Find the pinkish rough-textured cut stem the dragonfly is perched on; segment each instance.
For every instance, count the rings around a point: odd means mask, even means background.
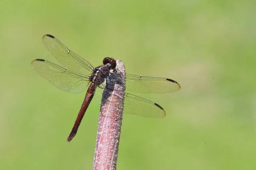
[[[111,78],[111,75],[123,75]],[[125,96],[125,66],[116,60],[116,69],[107,80],[110,90],[105,88],[102,94],[102,106],[99,113],[99,125],[93,170],[116,170],[119,139],[122,125],[122,112]]]

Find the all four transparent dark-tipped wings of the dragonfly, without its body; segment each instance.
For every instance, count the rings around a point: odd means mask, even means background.
[[[65,68],[44,59],[32,61],[32,68],[41,77],[44,77],[44,79],[47,79],[52,85],[61,90],[71,93],[81,93],[86,90],[90,83],[89,77],[93,74],[93,66],[82,57],[70,51],[52,35],[45,35],[43,43],[52,56]],[[120,75],[116,75],[116,77],[120,77]],[[125,89],[137,93],[170,93],[180,89],[180,85],[172,79],[140,77],[132,74],[126,74],[125,79]],[[100,103],[104,87],[108,88],[105,82],[99,85],[94,95],[94,98]],[[162,118],[166,115],[160,105],[128,93],[125,93],[124,113],[154,118]]]

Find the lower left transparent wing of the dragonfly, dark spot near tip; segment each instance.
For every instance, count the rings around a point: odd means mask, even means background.
[[[35,59],[31,67],[55,87],[71,93],[81,93],[88,86],[89,76],[70,71],[44,59]]]

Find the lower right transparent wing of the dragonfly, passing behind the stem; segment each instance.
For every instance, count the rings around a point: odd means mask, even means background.
[[[97,88],[94,99],[101,104],[102,88]],[[125,93],[125,104],[123,113],[136,114],[144,117],[163,118],[166,116],[163,108],[150,100]]]

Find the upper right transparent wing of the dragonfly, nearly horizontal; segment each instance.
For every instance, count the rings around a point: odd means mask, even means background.
[[[112,75],[113,81],[116,81],[114,77],[122,77],[120,75]],[[110,79],[110,81],[112,80]],[[172,79],[160,78],[160,77],[141,77],[133,74],[126,74],[126,86],[125,91],[133,91],[136,93],[171,93],[180,90],[179,83]],[[106,82],[100,85],[101,88],[106,86]]]

